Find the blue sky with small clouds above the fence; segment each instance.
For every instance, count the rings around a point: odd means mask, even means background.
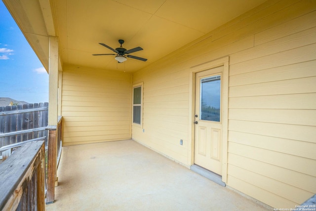
[[[1,0],[0,97],[48,102],[48,74]]]

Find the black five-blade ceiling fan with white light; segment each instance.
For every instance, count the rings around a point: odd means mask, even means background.
[[[138,59],[138,60],[141,60],[141,61],[147,61],[147,59],[145,58],[142,58],[142,57],[138,57],[138,56],[133,56],[133,55],[126,55],[126,54],[130,54],[130,53],[133,53],[133,52],[136,52],[136,51],[139,51],[139,50],[143,50],[143,48],[141,47],[134,47],[132,49],[129,49],[129,50],[126,50],[125,48],[122,47],[122,44],[124,43],[123,40],[118,40],[120,46],[117,47],[117,48],[112,48],[104,43],[99,43],[101,45],[103,45],[104,47],[107,47],[109,48],[110,50],[116,52],[117,54],[113,54],[113,53],[105,53],[105,54],[92,54],[93,56],[100,56],[100,55],[116,55],[115,59],[118,61],[118,63],[122,63],[124,61],[127,60],[126,57],[128,58],[132,58],[132,59]]]

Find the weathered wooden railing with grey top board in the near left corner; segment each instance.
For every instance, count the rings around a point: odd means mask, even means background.
[[[0,164],[0,210],[45,210],[44,141],[23,143]]]

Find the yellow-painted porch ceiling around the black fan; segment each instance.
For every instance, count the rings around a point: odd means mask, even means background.
[[[25,27],[23,21],[17,22],[46,69],[48,49],[38,45],[47,43],[44,37],[56,35],[62,63],[134,72],[266,0],[39,0],[39,6],[32,7],[28,0],[19,1],[31,23]],[[113,53],[98,43],[116,48],[119,39],[126,49],[143,47],[131,55],[148,61],[128,58],[118,64],[113,55],[92,56]]]

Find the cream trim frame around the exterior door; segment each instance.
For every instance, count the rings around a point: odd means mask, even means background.
[[[209,70],[215,67],[224,66],[223,84],[222,84],[222,121],[223,121],[223,136],[222,136],[222,181],[227,183],[227,159],[228,159],[228,89],[229,89],[229,56],[219,58],[213,61],[205,62],[190,67],[190,84],[189,84],[189,137],[191,137],[191,147],[189,146],[188,158],[190,166],[194,165],[194,144],[195,144],[195,87],[196,74],[204,70]]]

